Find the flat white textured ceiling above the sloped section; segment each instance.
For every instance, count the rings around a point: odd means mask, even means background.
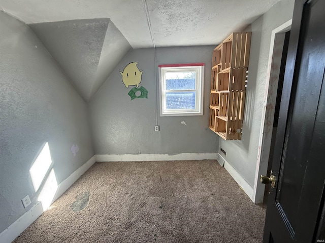
[[[153,47],[152,38],[157,47],[216,45],[277,2],[279,0],[0,0],[0,10],[26,24],[109,18],[133,48],[146,48]]]

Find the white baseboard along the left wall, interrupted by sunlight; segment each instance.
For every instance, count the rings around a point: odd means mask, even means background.
[[[93,164],[95,163],[95,155],[93,155],[84,165],[79,167],[74,173],[72,173],[66,180],[62,181],[56,190],[54,199],[52,203],[59,198],[69,187],[75,183],[79,177],[84,174]],[[34,222],[38,217],[44,212],[42,208],[42,203],[38,203],[33,206],[30,210],[24,213],[19,219],[13,222],[8,228],[0,233],[0,242],[10,243],[19,234],[21,234],[32,222]]]

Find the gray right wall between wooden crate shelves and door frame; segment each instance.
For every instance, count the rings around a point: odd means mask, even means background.
[[[294,0],[278,2],[247,28],[247,31],[252,31],[252,40],[242,140],[220,139],[219,142],[219,146],[227,152],[226,160],[252,187],[267,89],[271,32],[292,18],[294,2]]]

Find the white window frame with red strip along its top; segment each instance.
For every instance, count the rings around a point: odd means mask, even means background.
[[[204,85],[204,63],[190,64],[162,64],[159,68],[159,100],[160,100],[160,116],[187,116],[187,115],[203,115],[203,85]],[[194,90],[166,90],[166,73],[167,72],[196,72],[196,89]],[[170,92],[196,92],[195,109],[167,109],[166,93]]]

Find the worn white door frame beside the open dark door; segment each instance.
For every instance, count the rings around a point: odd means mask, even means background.
[[[273,118],[275,110],[276,95],[269,96],[272,92],[273,94],[277,93],[278,88],[278,76],[280,68],[277,71],[272,70],[272,63],[275,57],[273,57],[273,52],[275,48],[275,38],[276,34],[285,33],[291,29],[292,19],[281,24],[277,28],[273,29],[271,32],[271,44],[269,52],[269,62],[268,62],[268,71],[267,71],[267,83],[265,86],[265,96],[264,96],[264,108],[262,115],[262,125],[261,132],[259,133],[258,141],[258,153],[256,161],[256,170],[254,178],[254,187],[253,187],[253,202],[255,204],[263,203],[264,199],[264,190],[265,184],[262,184],[259,180],[261,175],[267,175],[269,156],[271,149],[271,139],[272,139],[272,130],[273,130]],[[277,76],[277,78],[275,78]],[[273,79],[273,80],[271,80]]]

